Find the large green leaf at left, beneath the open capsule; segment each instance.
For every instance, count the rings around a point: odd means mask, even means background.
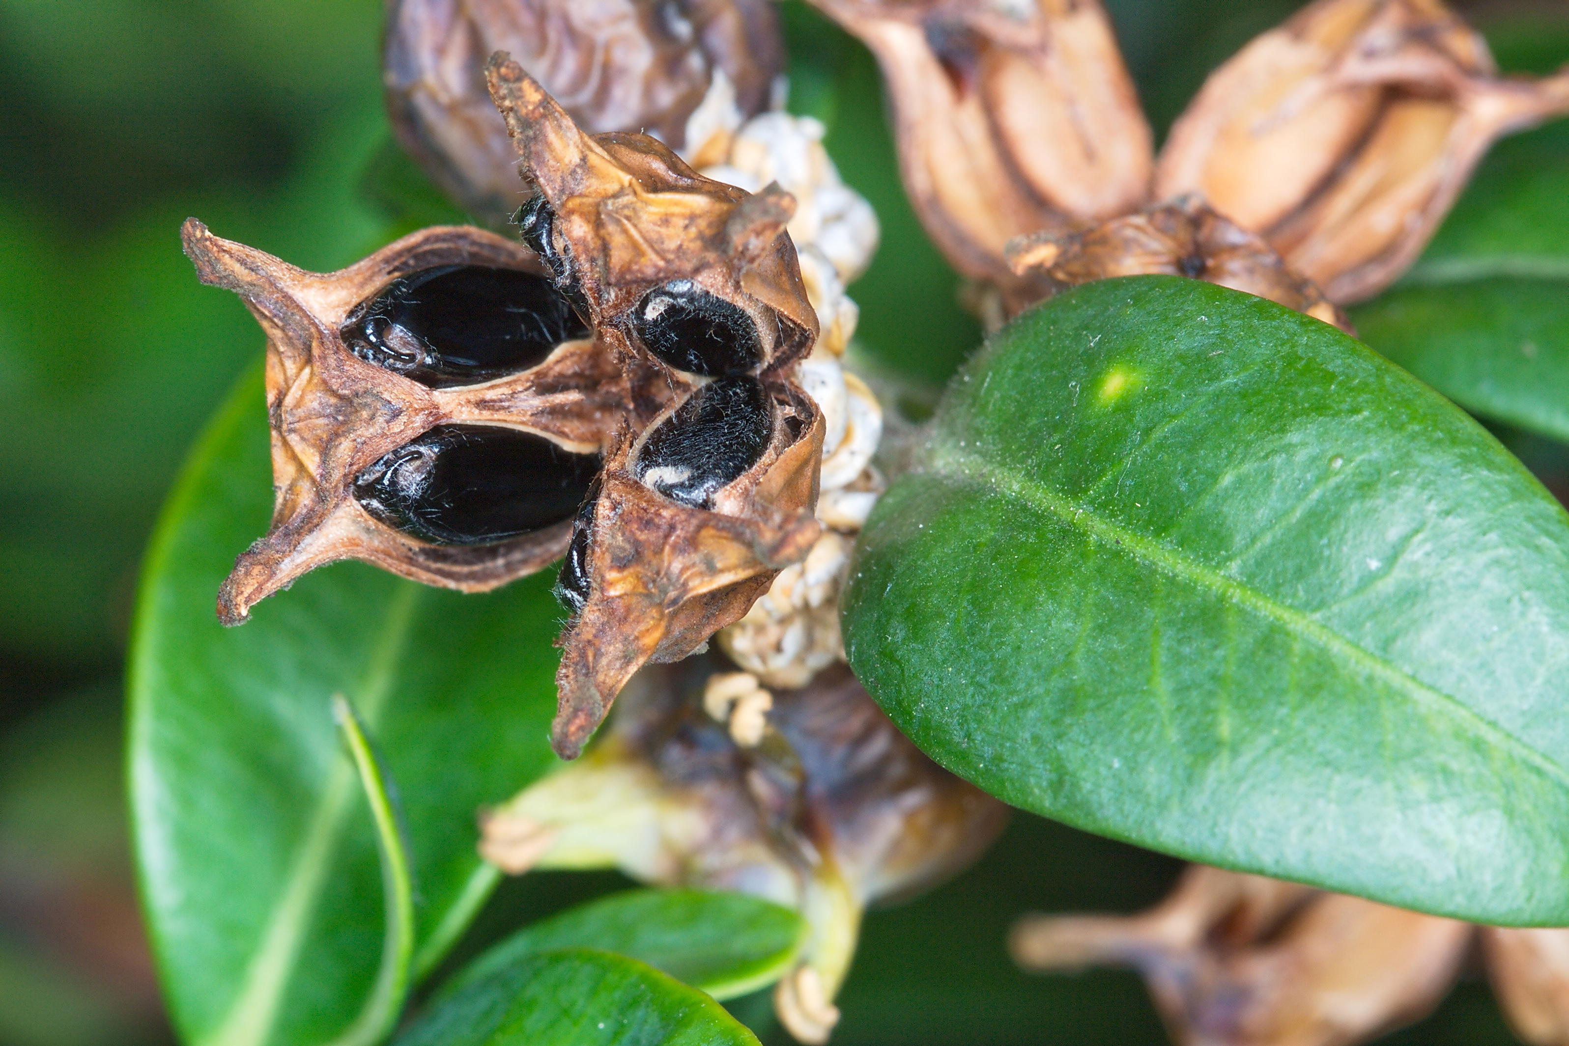
[[[176,1027],[202,1046],[309,1046],[372,994],[377,833],[331,698],[353,701],[402,787],[416,972],[494,884],[474,814],[557,761],[548,576],[485,596],[339,563],[223,629],[218,583],[267,527],[265,405],[248,378],[202,438],[143,576],[130,660],[130,804]]]

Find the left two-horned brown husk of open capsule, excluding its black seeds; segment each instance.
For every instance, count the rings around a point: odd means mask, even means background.
[[[598,342],[565,342],[538,367],[455,389],[427,389],[344,345],[340,328],[355,306],[400,276],[439,265],[541,273],[533,252],[482,229],[433,227],[323,274],[215,237],[195,218],[180,232],[201,281],[245,298],[267,332],[276,502],[267,536],[240,555],[218,593],[224,624],[245,621],[259,599],[334,560],[483,591],[560,557],[570,521],[494,544],[428,544],[372,518],[351,489],[384,453],[447,422],[527,428],[577,453],[609,444],[626,383]]]

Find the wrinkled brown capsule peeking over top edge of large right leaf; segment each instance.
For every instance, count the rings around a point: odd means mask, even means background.
[[[1293,273],[1263,237],[1227,221],[1199,196],[1079,232],[1020,237],[1007,245],[1007,260],[1029,281],[1023,293],[1004,295],[1010,315],[1094,279],[1167,273],[1246,290],[1354,332],[1313,281]]]

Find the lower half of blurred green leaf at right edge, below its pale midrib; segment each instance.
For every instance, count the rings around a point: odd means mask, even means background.
[[[1396,287],[1352,320],[1467,411],[1569,441],[1569,279]]]

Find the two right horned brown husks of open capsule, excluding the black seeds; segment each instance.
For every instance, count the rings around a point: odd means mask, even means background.
[[[593,514],[588,599],[562,638],[552,745],[574,757],[640,665],[684,657],[737,621],[817,538],[822,422],[791,376],[817,337],[817,315],[784,232],[788,193],[701,177],[646,135],[585,135],[505,55],[486,75],[521,166],[555,215],[555,249],[631,392]],[[632,334],[639,301],[672,279],[739,306],[763,337],[772,442],[712,511],[656,494],[629,470],[643,433],[700,384]]]

